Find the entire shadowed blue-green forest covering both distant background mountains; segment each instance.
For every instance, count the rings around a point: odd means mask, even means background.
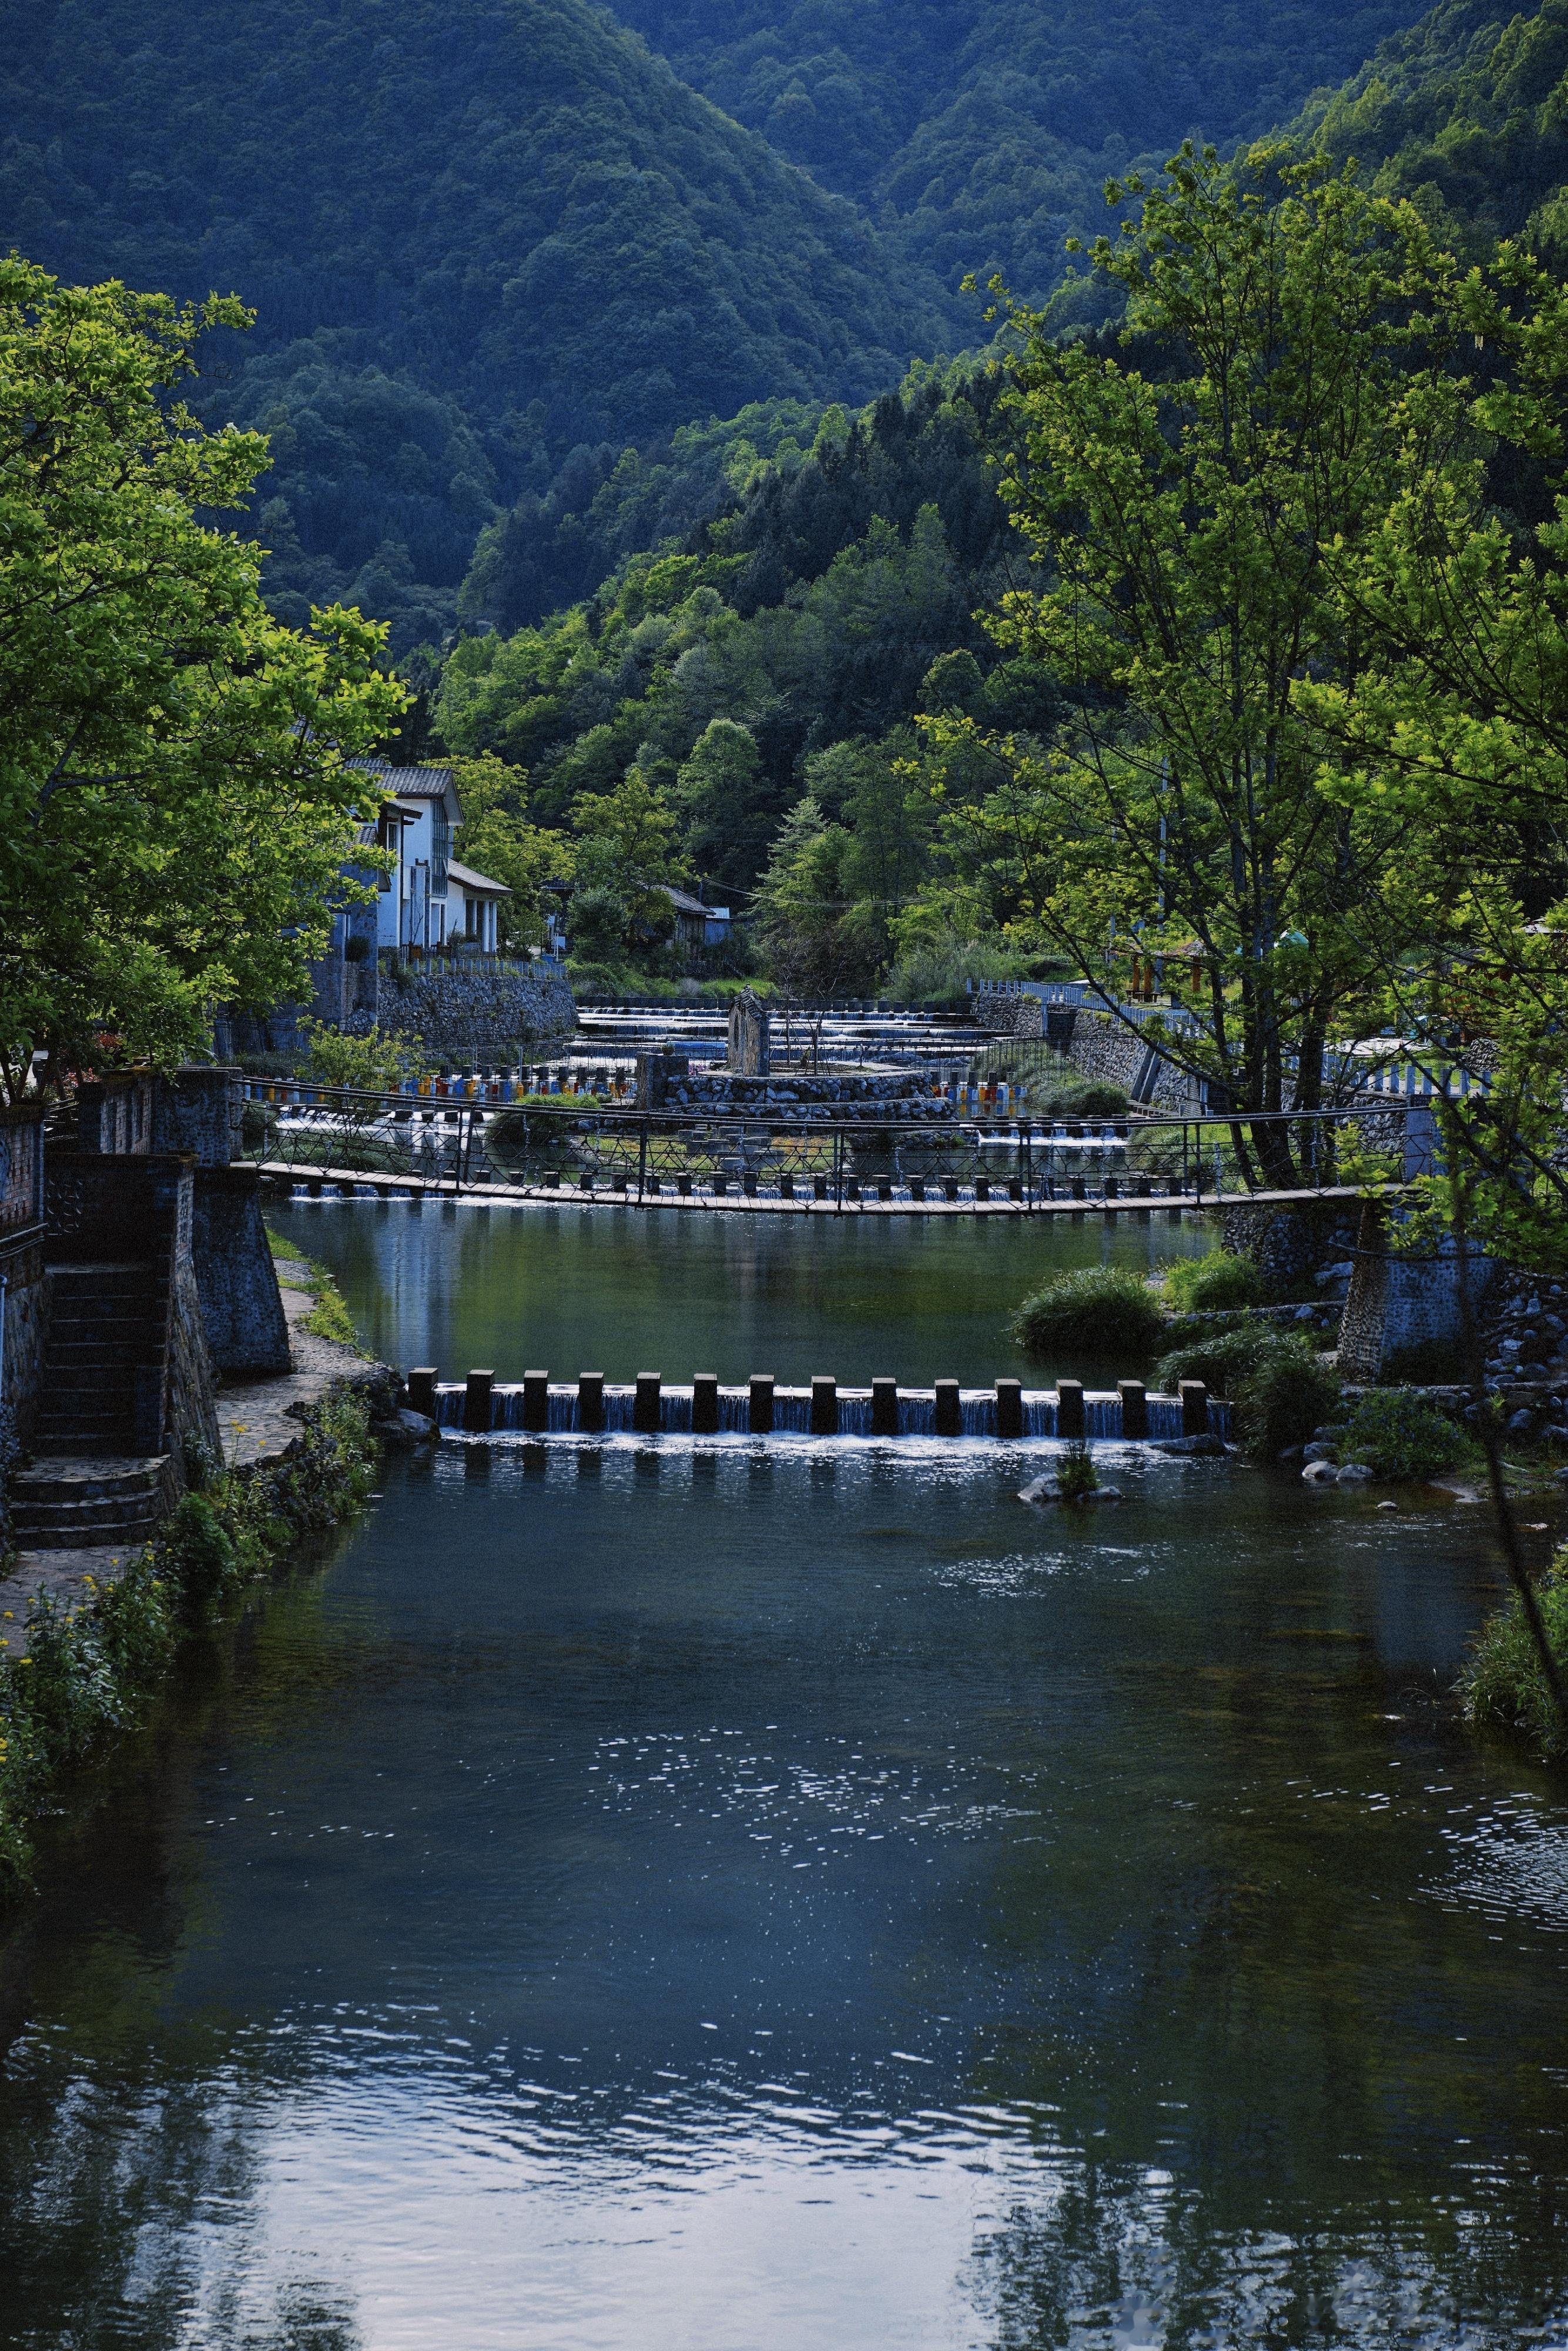
[[[508,515],[512,618],[590,592],[712,517],[752,456],[809,449],[802,402],[976,346],[966,270],[1048,294],[1107,169],[1265,129],[1410,7],[618,14],[0,7],[0,242],[256,310],[197,407],[273,435],[254,529],[284,618],[341,595],[400,654],[440,642]],[[595,510],[628,449],[635,494]]]

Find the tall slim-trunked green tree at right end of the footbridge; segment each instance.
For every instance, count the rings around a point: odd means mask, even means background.
[[[1232,1110],[1314,1110],[1326,1044],[1382,1025],[1429,907],[1408,828],[1324,790],[1333,745],[1298,686],[1354,691],[1338,550],[1399,498],[1403,404],[1460,331],[1453,266],[1352,174],[1182,148],[1093,273],[1126,299],[1105,353],[1009,308],[1004,496],[1048,585],[992,628],[1056,672],[1070,722],[1048,755],[997,738],[964,823],[1107,994],[1133,957],[1194,976],[1197,1032],[1168,1041]],[[1298,1178],[1284,1126],[1255,1126],[1253,1154]]]

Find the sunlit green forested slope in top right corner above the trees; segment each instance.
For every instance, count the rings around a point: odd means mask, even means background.
[[[1460,249],[1528,228],[1568,259],[1568,0],[1516,16],[1443,0],[1354,80],[1319,96],[1300,134],[1356,155],[1373,186],[1413,197]]]

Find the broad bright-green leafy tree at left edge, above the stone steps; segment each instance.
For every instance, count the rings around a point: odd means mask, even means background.
[[[0,1084],[33,1053],[200,1051],[216,999],[308,994],[374,816],[348,755],[402,691],[381,630],[261,602],[197,520],[266,465],[172,397],[233,301],[61,289],[0,261]],[[113,1041],[110,1041],[113,1039]]]

